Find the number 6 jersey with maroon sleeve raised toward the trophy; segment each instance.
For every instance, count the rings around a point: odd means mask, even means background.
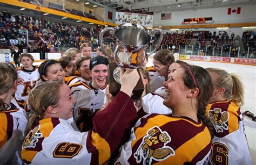
[[[106,117],[107,116],[107,117]],[[107,119],[106,119],[107,118]],[[119,92],[93,118],[93,130],[75,131],[63,119],[45,118],[26,136],[22,159],[26,164],[103,164],[118,149],[124,134],[137,119],[132,99]]]

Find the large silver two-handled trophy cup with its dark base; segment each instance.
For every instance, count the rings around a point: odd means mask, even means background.
[[[103,35],[106,32],[114,34],[116,37],[116,46],[112,54],[108,54],[104,49]],[[159,38],[155,41],[155,49],[147,55],[146,46],[152,40],[152,34],[159,33]],[[145,58],[150,56],[160,46],[163,40],[163,32],[159,29],[147,30],[146,27],[139,24],[124,23],[117,27],[105,27],[99,35],[100,46],[104,54],[114,62],[109,64],[109,85],[110,93],[116,96],[120,90],[119,82],[119,67],[124,69],[137,69],[142,66]],[[139,70],[138,70],[139,73]],[[136,87],[133,89],[133,100],[140,99],[144,90],[142,78],[138,81]]]

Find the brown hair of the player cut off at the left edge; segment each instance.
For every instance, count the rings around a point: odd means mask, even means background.
[[[0,63],[0,95],[8,92],[13,86],[15,80],[18,79],[18,74],[14,66],[9,63]],[[8,104],[5,104],[2,99],[0,99],[0,111],[7,110]]]

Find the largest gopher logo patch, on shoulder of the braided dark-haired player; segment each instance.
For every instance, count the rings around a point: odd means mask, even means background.
[[[171,141],[170,135],[166,131],[161,131],[159,127],[151,128],[143,137],[134,157],[137,163],[143,159],[143,164],[151,164],[152,159],[163,161],[168,157],[175,155],[174,150],[166,146]]]

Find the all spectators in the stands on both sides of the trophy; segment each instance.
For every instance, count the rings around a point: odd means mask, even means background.
[[[71,12],[71,11],[70,11]],[[72,12],[71,12],[72,13]],[[76,13],[76,12],[75,12]],[[26,36],[28,30],[29,45]],[[76,47],[79,48],[84,42],[90,42],[92,49],[96,50],[99,46],[99,32],[100,27],[87,28],[84,26],[73,26],[70,23],[62,21],[53,21],[25,15],[13,15],[9,11],[0,13],[0,40],[1,45],[7,47],[15,44],[19,49],[27,48],[28,52],[56,52],[62,51],[62,48]],[[10,43],[10,39],[15,41]],[[235,34],[228,35],[226,31],[188,31],[184,30],[180,33],[171,32],[164,34],[164,39],[160,48],[169,48],[175,46],[174,51],[179,48],[185,48],[185,45],[193,45],[196,51],[202,51],[203,55],[205,47],[207,46],[208,55],[220,55],[222,51],[223,56],[235,57],[238,55],[238,45],[235,45]],[[194,42],[195,41],[195,42]],[[114,46],[114,39],[108,37],[105,42],[109,43],[111,47]],[[255,32],[245,31],[242,34],[242,42],[244,49],[240,53],[244,56],[250,47],[250,53],[255,54]],[[22,52],[22,50],[21,50]],[[254,56],[254,55],[251,55]]]

